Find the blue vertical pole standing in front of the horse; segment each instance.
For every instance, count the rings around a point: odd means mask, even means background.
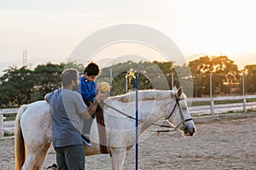
[[[138,72],[136,71],[136,170],[138,169]]]

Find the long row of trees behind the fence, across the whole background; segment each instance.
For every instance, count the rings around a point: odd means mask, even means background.
[[[0,107],[17,107],[44,99],[45,94],[61,88],[61,71],[71,67],[84,71],[84,65],[73,62],[49,62],[38,65],[34,70],[9,67],[0,77]],[[239,70],[227,56],[203,56],[190,61],[188,65],[175,65],[173,61],[127,61],[102,68],[96,82],[110,83],[113,87],[111,95],[125,94],[126,85],[129,90],[135,88],[135,79],[125,78],[130,69],[139,72],[139,89],[172,89],[174,84],[183,86],[184,92],[194,97],[207,96],[209,75],[212,74],[213,94],[241,94],[241,74],[244,74],[246,92],[254,94],[256,91],[256,65],[246,65],[243,70]],[[191,86],[193,92],[187,88]],[[230,87],[233,91],[230,91]]]

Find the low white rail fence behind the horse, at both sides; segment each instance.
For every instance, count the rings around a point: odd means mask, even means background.
[[[246,95],[246,96],[225,96],[225,97],[213,97],[213,98],[189,98],[188,100],[190,102],[203,102],[203,101],[209,101],[211,102],[210,106],[193,106],[190,108],[191,115],[199,114],[199,112],[203,114],[215,114],[214,108],[217,107],[217,105],[214,105],[215,101],[221,101],[221,100],[234,100],[234,99],[242,99],[243,103],[242,110],[243,112],[247,111],[247,99],[256,99],[256,95]],[[253,102],[253,105],[255,105],[253,108],[256,108],[256,103]],[[232,110],[232,105],[226,105],[224,107],[229,107],[230,110]],[[241,107],[240,107],[241,108]],[[205,111],[200,111],[205,110]],[[208,110],[208,111],[206,111]],[[13,109],[0,109],[0,138],[3,137],[3,114],[14,114],[19,111],[19,108],[13,108]]]

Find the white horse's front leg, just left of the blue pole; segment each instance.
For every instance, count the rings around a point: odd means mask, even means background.
[[[125,161],[126,147],[111,147],[112,170],[122,170]]]

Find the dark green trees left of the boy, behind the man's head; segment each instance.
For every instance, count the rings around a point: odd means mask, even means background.
[[[61,72],[66,68],[84,71],[83,65],[73,62],[38,65],[34,71],[26,67],[9,67],[0,77],[1,107],[18,107],[44,99],[44,95],[61,88]]]

